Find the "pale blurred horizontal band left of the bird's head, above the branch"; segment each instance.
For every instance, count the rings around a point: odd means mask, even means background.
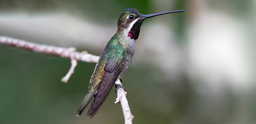
[[[117,24],[100,25],[79,20],[63,12],[33,15],[22,12],[0,14],[0,32],[3,32],[1,35],[18,35],[19,38],[29,38],[23,40],[47,45],[90,46],[93,49],[103,49],[116,30]]]

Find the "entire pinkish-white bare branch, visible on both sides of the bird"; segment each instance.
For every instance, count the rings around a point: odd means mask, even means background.
[[[0,43],[8,44],[12,46],[16,46],[19,48],[23,48],[25,50],[34,51],[37,53],[46,53],[53,54],[56,56],[60,56],[62,58],[71,59],[71,68],[69,69],[66,76],[64,76],[61,81],[67,83],[70,76],[74,73],[74,70],[77,66],[77,61],[89,62],[89,63],[97,63],[99,56],[88,54],[87,51],[76,52],[75,48],[61,48],[57,46],[44,45],[38,43],[32,43],[28,41],[23,41],[10,37],[0,36]],[[117,80],[118,83],[121,84],[120,80]],[[126,92],[123,88],[119,88],[117,90],[117,98],[115,103],[120,103],[122,105],[123,114],[124,114],[124,123],[132,124],[132,118],[134,117],[131,113],[128,101],[126,99]]]

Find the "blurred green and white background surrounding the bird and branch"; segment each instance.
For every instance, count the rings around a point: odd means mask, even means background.
[[[100,55],[126,8],[147,19],[124,75],[134,124],[255,124],[255,0],[0,0],[0,35]],[[96,64],[0,44],[0,124],[122,124],[112,89],[93,119],[76,111]]]

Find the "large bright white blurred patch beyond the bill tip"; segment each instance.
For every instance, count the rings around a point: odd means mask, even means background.
[[[229,85],[245,91],[250,84],[249,56],[243,23],[218,12],[197,13],[189,28],[189,75],[219,92]]]

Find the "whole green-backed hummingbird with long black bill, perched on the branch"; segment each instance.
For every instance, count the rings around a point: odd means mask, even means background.
[[[183,11],[185,10],[143,15],[135,8],[125,9],[117,21],[117,31],[115,35],[110,39],[99,56],[99,60],[89,83],[89,89],[77,111],[77,116],[83,113],[86,106],[94,97],[92,105],[87,112],[87,116],[93,118],[98,112],[99,107],[106,100],[114,84],[116,90],[120,87],[124,89],[121,84],[121,77],[132,64],[136,41],[139,37],[141,24],[145,19],[162,14]]]

